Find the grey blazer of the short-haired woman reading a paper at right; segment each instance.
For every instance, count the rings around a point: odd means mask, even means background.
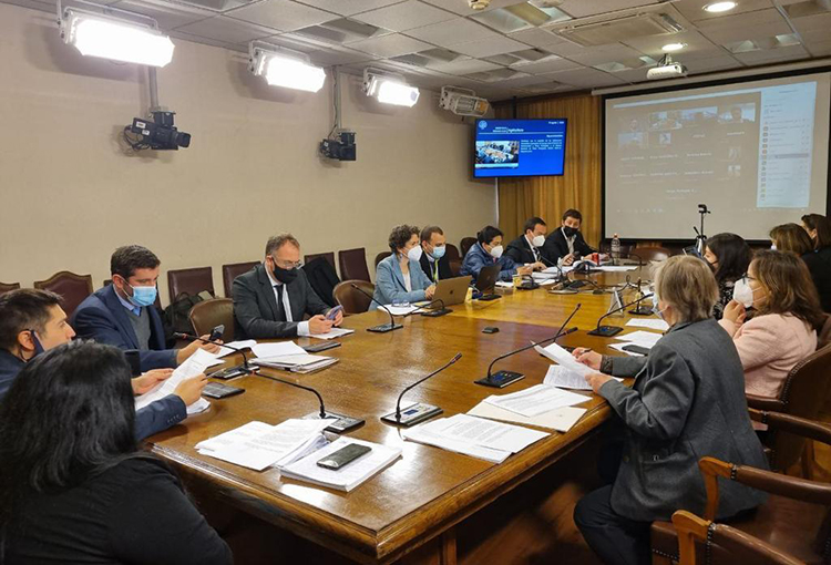
[[[614,357],[599,393],[625,424],[624,456],[612,507],[629,520],[669,520],[679,508],[702,515],[707,495],[698,460],[712,456],[768,469],[745,398],[736,346],[714,319],[678,323],[647,357]],[[719,485],[718,517],[758,506],[765,494],[733,481]]]

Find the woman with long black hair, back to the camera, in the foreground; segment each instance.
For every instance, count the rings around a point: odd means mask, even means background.
[[[176,474],[138,450],[134,402],[112,346],[75,341],[25,364],[0,404],[0,562],[233,562]]]

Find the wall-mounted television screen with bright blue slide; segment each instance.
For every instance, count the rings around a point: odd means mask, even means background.
[[[563,174],[565,119],[476,120],[473,176]]]

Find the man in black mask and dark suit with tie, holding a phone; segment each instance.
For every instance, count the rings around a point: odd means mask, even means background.
[[[236,339],[314,336],[340,326],[342,312],[334,320],[326,318],[330,308],[299,266],[300,244],[291,234],[268,239],[263,264],[234,279]],[[302,321],[306,314],[311,318]]]

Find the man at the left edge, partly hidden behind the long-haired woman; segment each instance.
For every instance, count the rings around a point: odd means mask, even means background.
[[[22,288],[0,296],[0,401],[25,363],[38,353],[66,343],[75,336],[66,323],[61,297],[48,290]],[[133,379],[133,392],[143,394],[172,374],[157,369]],[[182,381],[173,394],[135,413],[135,435],[143,440],[187,418],[186,407],[199,399],[204,374]]]

